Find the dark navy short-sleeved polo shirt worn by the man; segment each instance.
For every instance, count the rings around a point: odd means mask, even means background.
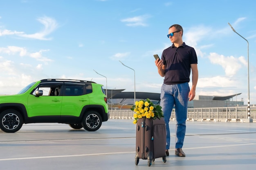
[[[162,58],[165,65],[164,84],[181,84],[189,82],[191,71],[190,64],[198,64],[195,49],[183,42],[182,46],[176,48],[174,44],[165,49]]]

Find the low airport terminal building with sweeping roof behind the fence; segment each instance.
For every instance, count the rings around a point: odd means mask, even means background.
[[[125,89],[108,90],[108,104],[115,108],[129,108],[134,104],[134,92],[123,92]],[[106,92],[106,89],[104,89]],[[234,107],[244,106],[244,101],[237,101],[237,96],[242,93],[229,96],[205,96],[198,95],[189,102],[188,108]],[[160,93],[136,92],[136,101],[149,98],[155,104],[160,104]],[[235,99],[233,99],[235,98]]]

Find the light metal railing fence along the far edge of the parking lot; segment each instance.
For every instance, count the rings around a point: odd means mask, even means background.
[[[110,119],[133,119],[133,110],[109,110]],[[256,119],[256,107],[250,106],[250,117]],[[187,120],[192,121],[244,121],[247,119],[247,107],[188,108]],[[170,120],[175,120],[173,108]]]

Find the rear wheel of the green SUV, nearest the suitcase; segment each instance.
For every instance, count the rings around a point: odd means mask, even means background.
[[[96,131],[101,127],[102,118],[101,115],[94,111],[90,110],[83,116],[82,126],[85,130]]]

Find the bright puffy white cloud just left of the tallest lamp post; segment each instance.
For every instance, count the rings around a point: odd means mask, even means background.
[[[238,70],[242,67],[242,64],[246,65],[246,60],[243,56],[235,58],[233,56],[225,57],[217,53],[210,53],[209,59],[211,63],[221,65],[227,76],[236,75]]]

